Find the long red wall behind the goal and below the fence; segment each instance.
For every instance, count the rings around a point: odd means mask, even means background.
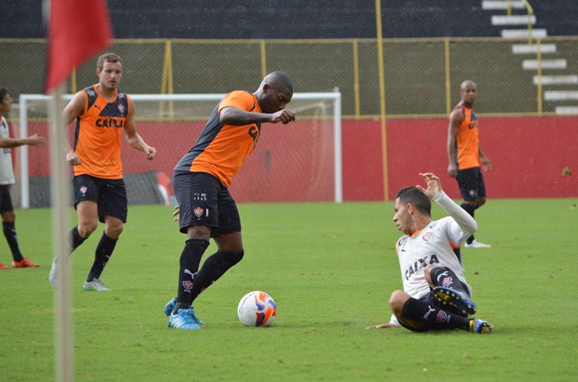
[[[196,140],[203,123],[138,123],[145,140],[158,149],[149,162],[123,140],[125,173],[163,171]],[[346,120],[343,134],[344,200],[383,200],[383,165],[379,121]],[[291,130],[287,130],[291,129]],[[46,136],[44,123],[29,123],[29,133]],[[234,178],[231,192],[243,201],[331,200],[332,136],[316,132],[310,122],[263,125],[255,152]],[[459,199],[457,183],[447,176],[447,119],[387,121],[388,193],[420,182],[418,173],[440,175],[442,185]],[[481,118],[480,143],[492,170],[484,173],[488,198],[578,196],[578,117]],[[31,147],[32,177],[49,175],[47,146]],[[290,159],[284,160],[284,158]],[[575,171],[562,176],[562,169]],[[283,174],[283,177],[279,177]]]

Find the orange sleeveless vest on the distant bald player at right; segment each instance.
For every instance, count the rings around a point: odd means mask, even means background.
[[[471,108],[458,103],[454,110],[462,115],[460,130],[455,137],[454,158],[458,170],[480,167],[480,133],[476,113]]]

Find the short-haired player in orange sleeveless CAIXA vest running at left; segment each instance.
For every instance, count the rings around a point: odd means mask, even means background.
[[[118,55],[101,55],[97,61],[98,84],[77,92],[62,112],[67,124],[76,119],[74,148],[66,153],[66,161],[74,166],[74,205],[78,215],[78,225],[68,235],[70,252],[97,229],[98,221],[105,223],[94,264],[83,284],[83,290],[88,291],[110,290],[100,276],[127,222],[121,134],[124,132],[128,144],[143,151],[146,159],[152,160],[157,153],[136,132],[134,102],[127,93],[117,89],[123,69]],[[56,275],[54,260],[49,277],[54,287],[57,287]]]

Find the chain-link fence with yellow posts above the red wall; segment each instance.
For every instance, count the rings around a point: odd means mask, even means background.
[[[46,40],[0,39],[0,50],[0,84],[12,97],[42,93]],[[121,88],[129,93],[254,90],[265,73],[283,70],[298,92],[339,88],[344,118],[380,113],[376,39],[117,39],[109,51],[123,57]],[[481,114],[553,115],[557,107],[559,114],[578,114],[572,108],[578,104],[576,36],[533,44],[501,38],[385,39],[383,51],[388,118],[445,117],[460,100],[465,79],[478,85]],[[75,70],[71,92],[97,82],[95,66],[92,59]]]

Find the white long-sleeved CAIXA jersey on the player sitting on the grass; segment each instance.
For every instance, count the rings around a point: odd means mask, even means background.
[[[413,298],[429,293],[424,268],[433,264],[454,271],[458,279],[468,286],[471,294],[472,289],[464,276],[460,245],[476,231],[476,221],[443,191],[432,200],[450,216],[433,220],[424,229],[412,235],[403,235],[397,241],[395,249],[399,258],[403,291]],[[390,322],[397,323],[395,316],[391,317]]]

